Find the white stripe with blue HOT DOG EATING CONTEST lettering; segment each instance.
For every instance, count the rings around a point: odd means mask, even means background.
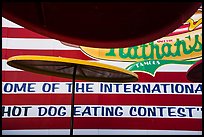
[[[2,118],[71,115],[70,105],[3,105],[2,108]],[[202,119],[202,106],[75,105],[74,108],[74,117]]]

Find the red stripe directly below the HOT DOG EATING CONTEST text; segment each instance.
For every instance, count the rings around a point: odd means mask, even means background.
[[[68,129],[70,118],[3,118],[2,130]],[[186,118],[74,118],[74,129],[146,129],[202,131],[202,119]]]

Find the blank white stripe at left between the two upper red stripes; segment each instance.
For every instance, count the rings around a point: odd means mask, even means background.
[[[80,50],[77,47],[65,46],[55,39],[2,38],[2,48],[5,49],[35,49],[35,50]]]

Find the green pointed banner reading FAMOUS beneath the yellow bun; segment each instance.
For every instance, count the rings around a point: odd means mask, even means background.
[[[152,76],[155,76],[156,70],[166,64],[184,64],[191,65],[196,63],[196,61],[177,61],[177,60],[148,60],[135,62],[128,66],[126,69],[129,71],[144,72]]]

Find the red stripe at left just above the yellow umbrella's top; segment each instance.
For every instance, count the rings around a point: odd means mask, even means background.
[[[61,56],[66,58],[76,58],[83,60],[93,60],[86,56],[81,50],[26,50],[26,49],[2,49],[2,59],[8,59],[17,55],[43,55]]]

